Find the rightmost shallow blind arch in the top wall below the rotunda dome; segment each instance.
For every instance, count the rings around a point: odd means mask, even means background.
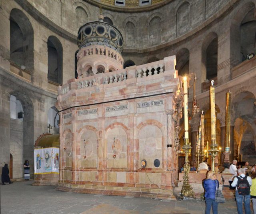
[[[190,4],[182,3],[176,13],[176,34],[180,36],[190,30]]]

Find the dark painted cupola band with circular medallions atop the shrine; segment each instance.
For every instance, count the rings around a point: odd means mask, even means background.
[[[79,48],[90,45],[104,45],[121,53],[124,39],[116,27],[106,22],[95,21],[88,22],[79,28],[77,44]]]

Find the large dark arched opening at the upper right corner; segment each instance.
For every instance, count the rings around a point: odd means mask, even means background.
[[[255,47],[255,4],[248,2],[241,6],[232,18],[230,26],[230,66],[231,68],[254,52]],[[243,35],[242,35],[243,33]]]

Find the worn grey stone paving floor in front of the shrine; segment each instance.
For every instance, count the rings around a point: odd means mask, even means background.
[[[1,214],[203,214],[200,200],[160,200],[60,192],[55,186],[32,186],[33,181],[0,186]],[[219,204],[218,213],[234,214],[236,202]]]

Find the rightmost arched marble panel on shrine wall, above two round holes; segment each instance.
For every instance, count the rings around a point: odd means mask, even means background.
[[[135,139],[136,158],[135,168],[139,169],[140,160],[145,159],[148,162],[149,168],[156,168],[154,160],[160,160],[160,168],[164,169],[166,165],[166,150],[165,150],[165,128],[162,123],[157,120],[145,120],[137,125],[137,133]]]

